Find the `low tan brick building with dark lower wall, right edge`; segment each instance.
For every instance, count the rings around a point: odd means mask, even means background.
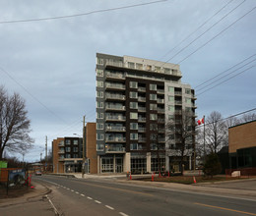
[[[256,121],[228,129],[228,153],[231,169],[256,168]]]

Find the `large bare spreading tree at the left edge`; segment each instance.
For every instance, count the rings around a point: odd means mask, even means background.
[[[27,117],[25,100],[18,94],[7,94],[0,86],[0,160],[4,150],[25,152],[32,147],[31,121]]]

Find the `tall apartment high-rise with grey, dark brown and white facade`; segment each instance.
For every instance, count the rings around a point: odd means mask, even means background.
[[[130,56],[96,54],[96,151],[98,173],[178,169],[177,135],[183,111],[195,118],[194,90],[181,82],[178,65]],[[192,129],[194,131],[194,127]],[[194,137],[188,145],[191,167]]]

